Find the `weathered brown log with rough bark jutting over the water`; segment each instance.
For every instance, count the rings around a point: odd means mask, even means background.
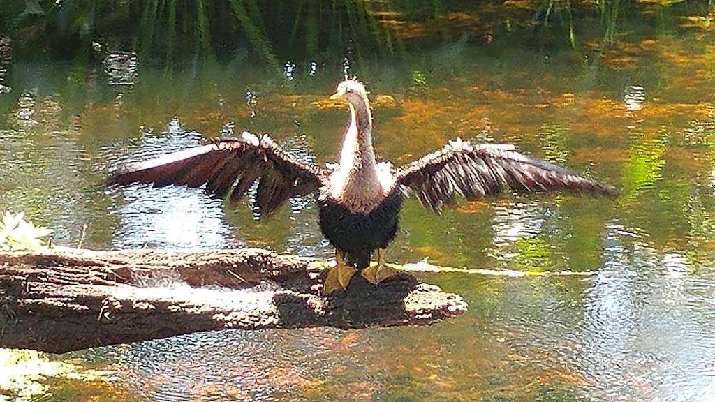
[[[325,265],[267,250],[0,253],[0,347],[63,353],[222,328],[426,325],[458,295],[400,274],[320,294]]]

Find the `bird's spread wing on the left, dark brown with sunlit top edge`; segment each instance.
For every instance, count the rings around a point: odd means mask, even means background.
[[[219,138],[203,145],[127,165],[114,172],[107,185],[132,182],[156,186],[187,185],[239,200],[258,181],[255,203],[268,215],[290,197],[317,190],[327,172],[293,159],[267,135],[243,132],[240,138]]]

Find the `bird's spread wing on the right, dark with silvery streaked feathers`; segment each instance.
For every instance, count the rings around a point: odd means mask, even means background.
[[[618,192],[573,170],[526,157],[508,144],[472,144],[460,139],[395,173],[407,195],[440,212],[453,205],[455,194],[468,200],[498,194],[503,187],[538,192],[573,190],[603,195]]]

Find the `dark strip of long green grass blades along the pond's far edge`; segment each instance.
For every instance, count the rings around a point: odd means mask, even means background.
[[[706,14],[709,7],[709,1],[523,0],[498,7],[493,3],[9,0],[0,8],[0,31],[16,39],[16,52],[25,54],[90,59],[107,49],[124,49],[167,66],[255,56],[277,71],[285,60],[310,63],[326,51],[335,56],[330,63],[340,63],[346,49],[358,64],[373,56],[400,57],[409,39],[446,39],[465,29],[489,43],[505,36],[531,41],[536,30],[545,41],[556,38],[576,49],[577,41],[593,39],[589,35],[595,22],[607,46],[616,41],[624,14],[654,7],[686,7]]]

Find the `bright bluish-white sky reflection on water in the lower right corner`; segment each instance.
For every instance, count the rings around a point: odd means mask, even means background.
[[[617,226],[604,257],[586,291],[578,361],[592,381],[611,384],[596,396],[708,401],[713,383],[702,370],[715,340],[703,335],[715,330],[715,284],[690,275],[684,256],[623,239]]]

